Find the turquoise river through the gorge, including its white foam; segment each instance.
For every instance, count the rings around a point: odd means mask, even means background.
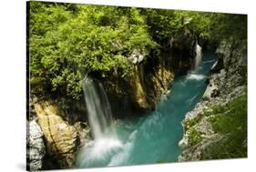
[[[183,135],[181,121],[200,101],[216,56],[203,52],[197,70],[176,76],[171,91],[161,96],[156,110],[140,117],[118,119],[115,137],[94,140],[77,156],[76,167],[114,167],[178,161]]]

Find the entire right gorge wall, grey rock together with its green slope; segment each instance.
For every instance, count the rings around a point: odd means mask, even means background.
[[[182,121],[179,161],[247,157],[247,42],[224,40],[209,85]]]

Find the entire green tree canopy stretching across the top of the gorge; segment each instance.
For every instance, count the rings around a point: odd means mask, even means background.
[[[221,29],[227,32],[234,25],[223,21],[244,19],[238,15],[103,5],[30,2],[29,7],[31,89],[71,99],[81,97],[80,81],[88,72],[97,77],[116,74],[128,80],[134,65],[127,57],[135,50],[146,56],[145,63],[149,55],[159,57],[160,50],[169,48],[171,37],[189,32],[217,39],[215,33]],[[220,27],[218,22],[222,22]]]

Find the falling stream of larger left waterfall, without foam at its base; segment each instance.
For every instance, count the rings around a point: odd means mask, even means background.
[[[83,80],[83,90],[87,103],[89,125],[95,140],[102,137],[116,137],[116,132],[112,127],[111,107],[102,84],[87,77]]]

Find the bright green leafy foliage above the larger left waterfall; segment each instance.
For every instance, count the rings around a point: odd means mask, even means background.
[[[132,65],[126,57],[135,49],[147,56],[157,46],[137,8],[77,5],[76,13],[71,9],[30,2],[31,80],[38,78],[37,83],[52,93],[79,99],[84,71],[108,76],[118,70],[120,76],[128,76]]]

